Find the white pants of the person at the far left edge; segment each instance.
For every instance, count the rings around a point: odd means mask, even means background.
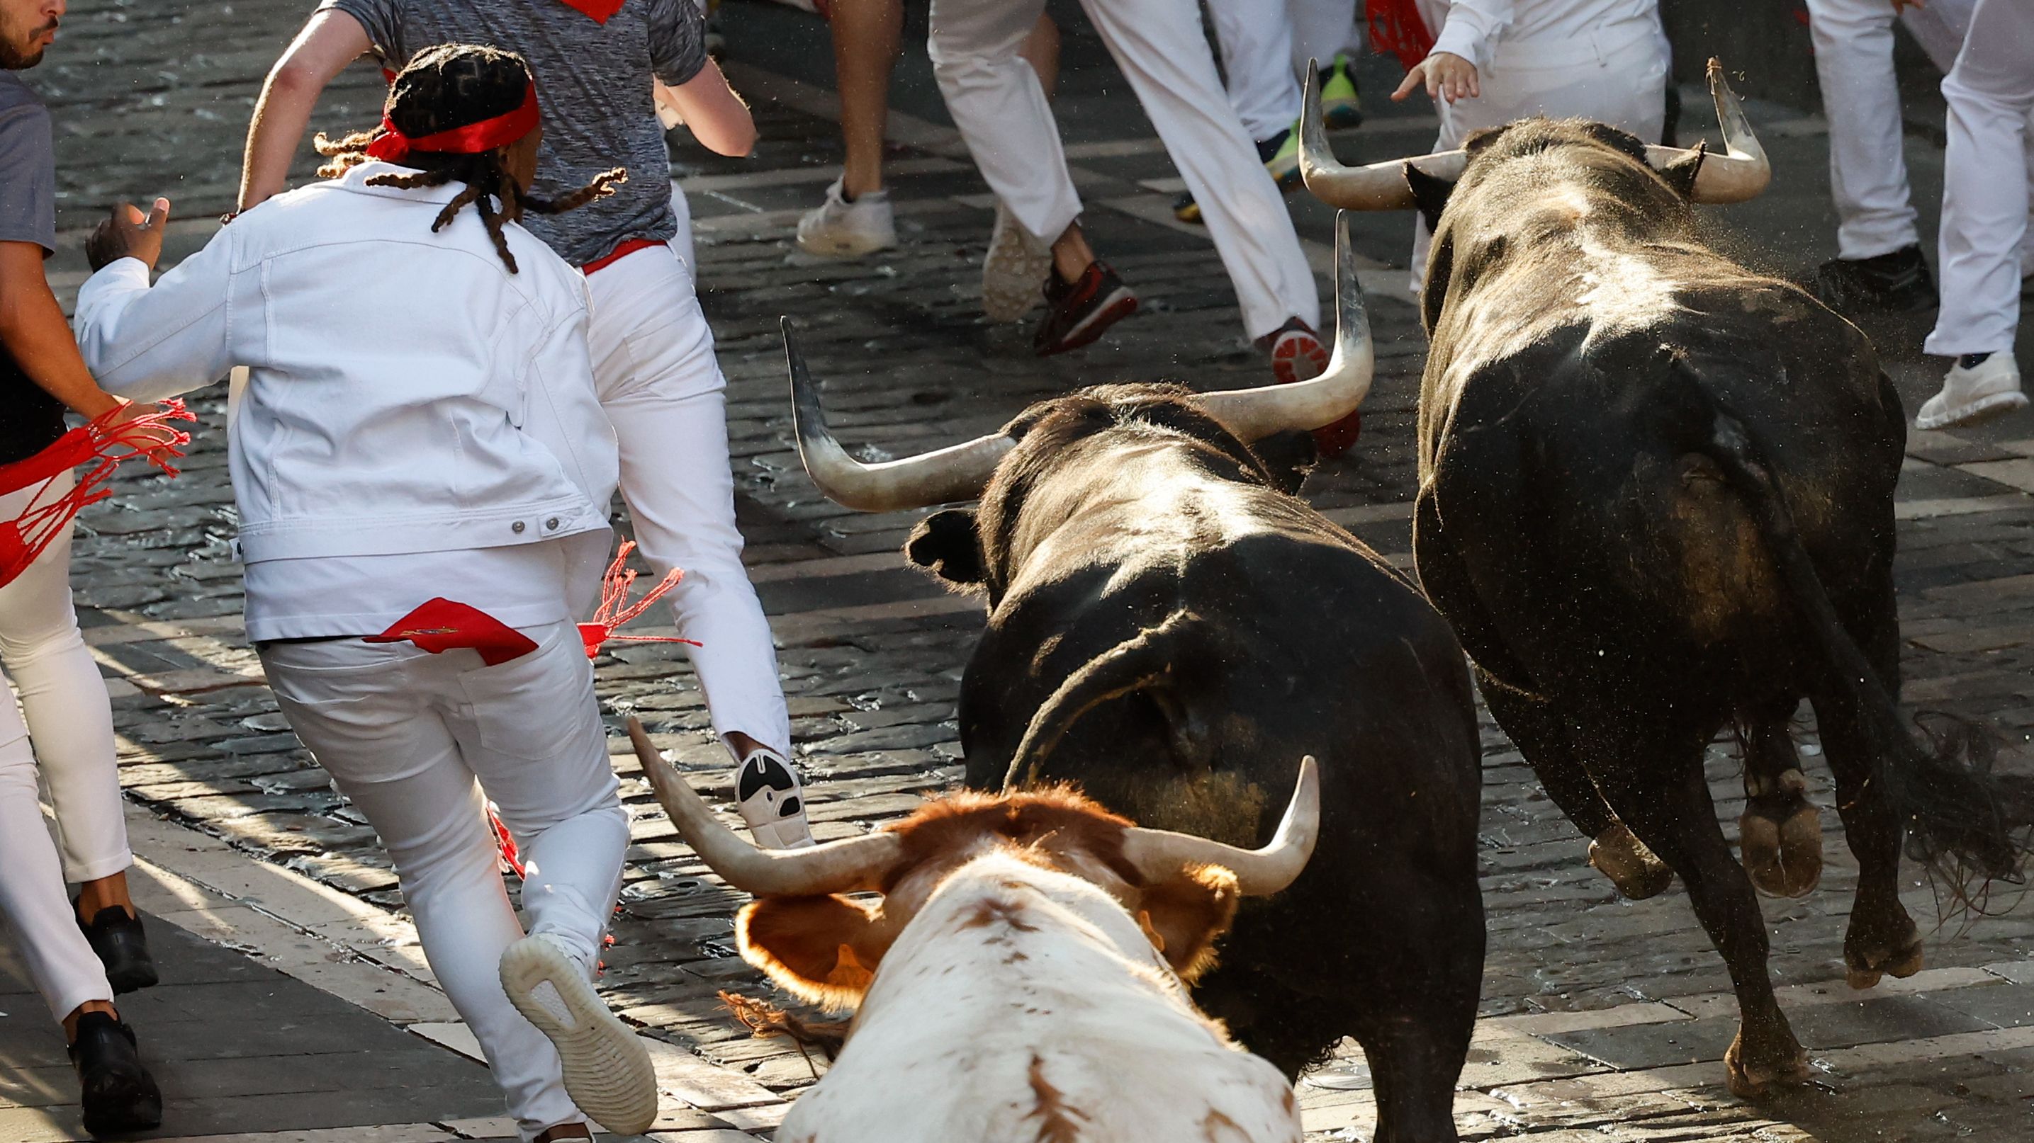
[[[71,474],[63,474],[0,496],[0,519],[69,488]],[[12,921],[28,976],[61,1021],[85,1001],[114,999],[63,883],[96,881],[134,862],[120,814],[106,681],[71,610],[69,527],[0,588],[0,659],[12,679],[12,691],[0,696],[0,913]],[[55,844],[37,795],[39,761],[57,809]]]

